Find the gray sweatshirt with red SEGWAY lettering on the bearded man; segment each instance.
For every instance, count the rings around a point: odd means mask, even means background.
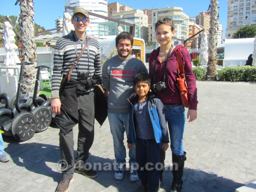
[[[119,59],[116,55],[105,61],[101,79],[104,88],[109,91],[109,113],[129,112],[127,98],[135,92],[133,78],[142,72],[147,73],[146,66],[132,55],[125,60]]]

